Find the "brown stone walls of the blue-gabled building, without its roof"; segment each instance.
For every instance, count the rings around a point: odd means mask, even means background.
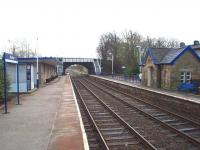
[[[154,65],[150,56],[147,57],[145,66],[142,68],[142,85],[147,86],[148,68],[151,67],[152,73],[152,86],[164,89],[177,89],[181,83],[180,76],[182,71],[192,72],[192,79],[200,80],[200,61],[190,52],[186,51],[175,64],[172,65]],[[159,72],[161,75],[159,76]],[[160,81],[160,82],[159,82]]]

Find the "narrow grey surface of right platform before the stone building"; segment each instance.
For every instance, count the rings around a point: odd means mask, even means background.
[[[107,77],[102,77],[102,76],[95,76],[95,77],[103,78],[103,79],[106,79],[106,80],[118,82],[118,83],[121,83],[121,84],[133,86],[133,87],[146,89],[146,90],[149,90],[149,91],[153,91],[153,92],[177,97],[177,98],[180,98],[180,99],[183,99],[183,100],[187,100],[187,101],[191,101],[191,102],[195,102],[195,103],[200,104],[200,96],[199,95],[194,95],[194,94],[190,94],[190,93],[182,93],[182,92],[177,92],[177,91],[170,91],[170,90],[165,90],[165,89],[154,89],[154,88],[149,88],[149,87],[139,85],[138,83],[135,84],[133,82],[127,82],[127,81],[122,81],[122,80],[117,80],[117,79],[112,79],[112,78],[107,78]]]

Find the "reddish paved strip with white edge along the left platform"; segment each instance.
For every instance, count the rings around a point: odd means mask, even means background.
[[[86,150],[86,133],[69,77],[65,82],[48,150]]]

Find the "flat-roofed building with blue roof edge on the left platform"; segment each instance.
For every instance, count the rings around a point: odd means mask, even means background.
[[[28,92],[37,87],[37,58],[18,58],[20,92]],[[47,79],[57,76],[57,65],[60,61],[55,57],[39,57],[39,84],[43,85]]]

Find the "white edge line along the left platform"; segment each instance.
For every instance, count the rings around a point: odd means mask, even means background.
[[[79,107],[78,107],[76,95],[75,95],[75,93],[74,93],[74,87],[73,87],[73,85],[72,85],[71,77],[70,77],[70,76],[68,76],[68,77],[69,77],[69,79],[70,79],[70,84],[71,84],[71,87],[72,87],[73,97],[74,97],[75,104],[76,104],[76,108],[77,108],[77,111],[78,111],[78,116],[79,116],[80,126],[81,126],[81,132],[82,132],[82,136],[83,136],[84,149],[85,149],[85,150],[89,150],[87,135],[86,135],[86,132],[85,132],[85,128],[84,128],[84,126],[83,126],[83,120],[82,120],[82,117],[81,117],[80,109],[79,109]]]

